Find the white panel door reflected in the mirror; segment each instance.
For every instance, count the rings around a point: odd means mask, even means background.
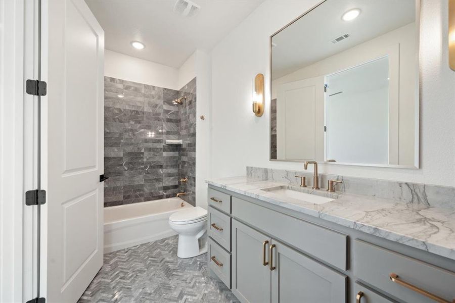
[[[324,160],[324,77],[278,87],[277,158]]]

